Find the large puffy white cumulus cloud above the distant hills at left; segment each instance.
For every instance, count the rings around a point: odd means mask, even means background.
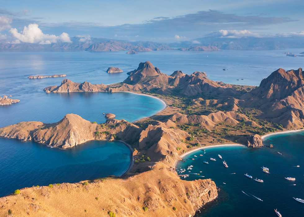
[[[38,28],[37,24],[29,24],[27,27],[25,26],[23,31],[18,33],[18,30],[16,28],[10,30],[11,34],[15,38],[17,38],[17,41],[20,42],[26,42],[26,43],[39,43],[39,44],[51,44],[51,43],[57,43],[57,41],[62,42],[70,42],[69,34],[62,33],[59,36],[56,35],[49,35],[49,34],[43,34],[41,29]]]

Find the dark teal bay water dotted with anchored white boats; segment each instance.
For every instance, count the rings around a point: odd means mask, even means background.
[[[205,148],[205,154],[199,150],[187,155],[186,162],[179,163],[177,168],[193,165],[191,173],[200,175],[188,173],[187,170],[186,173],[190,174],[190,177],[186,180],[212,179],[221,189],[217,200],[204,206],[198,216],[276,216],[276,208],[282,216],[303,216],[304,204],[293,199],[304,199],[303,141],[302,131],[266,137],[263,143],[268,146],[273,144],[272,149],[212,147]],[[203,156],[199,156],[200,154]],[[226,160],[228,168],[224,167],[218,154]],[[211,161],[211,157],[217,161]],[[190,160],[191,158],[195,160]],[[208,161],[209,164],[203,164],[203,161]],[[296,167],[297,165],[300,167]],[[260,168],[262,166],[269,168],[270,174],[264,173]],[[249,179],[244,175],[246,173],[253,176],[253,179],[262,179],[264,183]],[[293,177],[296,181],[288,181],[284,177]],[[259,201],[253,195],[263,201]]]

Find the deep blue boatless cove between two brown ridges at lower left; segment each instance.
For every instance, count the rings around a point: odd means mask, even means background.
[[[0,144],[0,197],[33,185],[120,176],[131,160],[130,149],[117,141],[91,141],[65,150],[6,138]]]

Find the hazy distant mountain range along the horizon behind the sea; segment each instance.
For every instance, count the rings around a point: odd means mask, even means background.
[[[125,40],[113,40],[109,38],[91,38],[89,41],[81,41],[80,38],[71,38],[72,43],[0,43],[0,51],[6,50],[86,50],[92,52],[124,51],[135,52],[181,50],[181,51],[217,51],[217,50],[279,50],[288,48],[304,48],[303,37],[272,37],[272,38],[196,38],[191,41],[175,43],[157,43],[150,41],[129,42]]]

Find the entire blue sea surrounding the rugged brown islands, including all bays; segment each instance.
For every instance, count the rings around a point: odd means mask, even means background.
[[[103,113],[133,122],[158,113],[163,102],[133,93],[45,93],[43,88],[61,84],[63,79],[92,84],[113,84],[127,78],[127,72],[140,62],[150,61],[167,75],[176,70],[185,74],[204,71],[209,79],[229,84],[259,85],[263,78],[278,68],[302,67],[303,57],[288,57],[283,52],[298,54],[304,49],[275,51],[153,51],[128,55],[125,52],[0,52],[0,96],[12,96],[20,102],[0,107],[0,127],[21,121],[54,123],[73,113],[86,120],[104,123]],[[123,73],[108,74],[108,67],[119,67]],[[223,70],[226,69],[226,70]],[[30,75],[66,77],[28,79]],[[239,80],[237,80],[239,79]],[[244,80],[242,80],[244,79]],[[199,216],[303,216],[304,199],[303,133],[266,137],[264,147],[216,147],[206,149],[202,157],[186,160],[178,167],[194,166],[186,180],[211,178],[221,191],[216,201],[201,210]],[[277,152],[282,153],[282,155]],[[0,138],[0,197],[16,189],[33,185],[79,182],[108,175],[123,174],[130,164],[130,151],[120,142],[92,141],[61,150],[16,139]],[[199,156],[201,152],[191,153]],[[223,156],[224,168],[217,157]],[[210,157],[217,161],[210,162]],[[209,164],[203,164],[208,160]],[[300,167],[295,167],[299,165]],[[260,167],[270,168],[270,174]],[[247,178],[263,179],[258,183]],[[294,177],[288,181],[284,177]],[[223,184],[226,183],[226,184]],[[296,185],[294,185],[296,184]],[[243,193],[244,191],[245,193]],[[253,197],[253,195],[255,197]],[[259,197],[263,201],[258,200]]]

